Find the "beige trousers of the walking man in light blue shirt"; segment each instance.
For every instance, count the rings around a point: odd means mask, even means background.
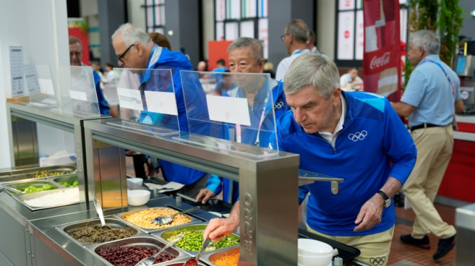
[[[433,201],[452,156],[452,125],[421,128],[410,134],[417,160],[402,190],[415,213],[411,236],[420,239],[433,233],[438,238],[449,238],[455,228],[442,221]]]

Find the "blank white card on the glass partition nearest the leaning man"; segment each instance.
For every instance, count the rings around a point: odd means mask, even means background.
[[[225,123],[250,126],[246,98],[206,95],[209,119]]]

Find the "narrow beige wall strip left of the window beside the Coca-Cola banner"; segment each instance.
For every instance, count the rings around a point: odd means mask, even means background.
[[[334,60],[335,0],[316,1],[316,46]]]

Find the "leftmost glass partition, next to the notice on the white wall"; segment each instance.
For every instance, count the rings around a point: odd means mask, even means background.
[[[56,92],[54,89],[49,65],[23,65],[29,102],[24,104],[38,107],[56,107]]]

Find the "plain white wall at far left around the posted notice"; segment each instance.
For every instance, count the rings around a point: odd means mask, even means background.
[[[8,47],[23,47],[23,62],[68,65],[66,1],[0,0],[0,168],[13,166],[6,98],[11,96]]]

